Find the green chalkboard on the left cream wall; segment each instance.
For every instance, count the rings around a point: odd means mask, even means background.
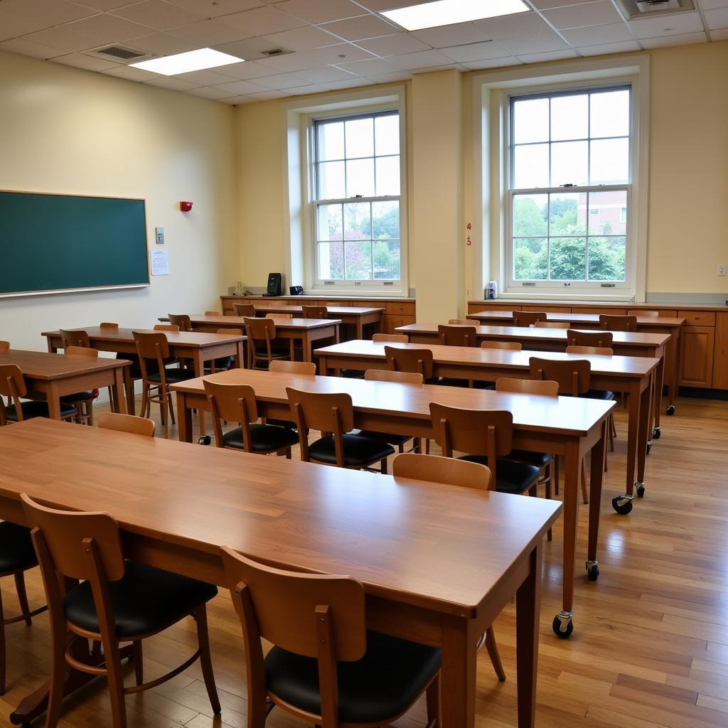
[[[0,191],[0,296],[144,284],[143,199]]]

